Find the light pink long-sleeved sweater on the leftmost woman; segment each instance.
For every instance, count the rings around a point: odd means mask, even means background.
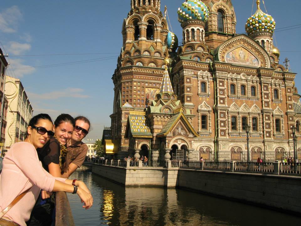
[[[55,178],[43,169],[34,146],[27,142],[15,143],[3,159],[0,174],[0,211],[6,208],[15,197],[27,189],[26,195],[15,204],[4,217],[26,226],[40,190],[52,191]]]

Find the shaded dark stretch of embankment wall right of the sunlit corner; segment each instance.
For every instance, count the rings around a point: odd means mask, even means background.
[[[208,170],[179,170],[178,186],[301,213],[301,177]]]

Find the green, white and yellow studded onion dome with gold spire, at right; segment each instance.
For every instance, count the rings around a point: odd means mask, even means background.
[[[257,11],[246,22],[246,32],[251,35],[255,32],[266,31],[273,33],[276,22],[272,16],[261,11],[260,0],[257,0]]]

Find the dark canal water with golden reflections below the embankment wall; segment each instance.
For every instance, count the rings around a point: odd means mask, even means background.
[[[192,191],[158,187],[125,188],[82,168],[71,178],[85,181],[94,199],[91,209],[85,210],[77,195],[68,194],[76,226],[301,224],[301,217]]]

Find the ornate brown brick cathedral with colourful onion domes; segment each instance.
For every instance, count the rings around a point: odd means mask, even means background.
[[[114,82],[107,155],[158,160],[265,161],[293,156],[300,136],[295,73],[279,64],[275,21],[260,9],[236,34],[231,0],[186,0],[182,42],[160,0],[131,0]],[[298,156],[301,145],[297,145]]]

